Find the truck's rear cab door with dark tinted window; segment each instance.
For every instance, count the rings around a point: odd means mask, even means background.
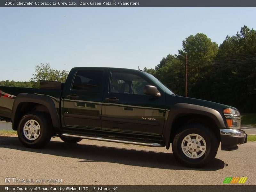
[[[63,95],[65,127],[101,129],[105,69],[77,69]]]

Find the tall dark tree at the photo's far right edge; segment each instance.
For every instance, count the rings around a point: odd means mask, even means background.
[[[212,76],[219,82],[217,88],[223,85],[222,89],[216,90],[216,101],[236,106],[241,111],[256,112],[255,57],[256,31],[253,28],[244,26],[236,35],[226,37],[216,58],[216,61],[222,60],[225,70]]]

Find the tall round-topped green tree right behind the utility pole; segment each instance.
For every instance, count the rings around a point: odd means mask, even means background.
[[[188,36],[182,42],[182,50],[178,51],[176,57],[185,63],[185,56],[188,55],[188,96],[197,97],[195,92],[200,92],[207,87],[207,78],[205,74],[209,73],[212,68],[209,63],[218,53],[218,44],[212,42],[203,33],[197,33],[195,36]],[[193,94],[193,95],[191,95]]]

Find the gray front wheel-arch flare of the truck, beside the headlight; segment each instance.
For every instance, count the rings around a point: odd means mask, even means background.
[[[218,128],[225,129],[226,124],[224,122],[223,117],[220,113],[212,108],[203,107],[199,105],[193,105],[188,103],[178,103],[175,104],[171,109],[167,117],[167,121],[164,128],[164,135],[165,135],[165,147],[166,149],[170,148],[170,138],[171,138],[171,131],[172,131],[172,124],[174,121],[183,115],[203,115],[210,117],[218,126]]]

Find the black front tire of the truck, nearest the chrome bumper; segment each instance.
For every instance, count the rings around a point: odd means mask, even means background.
[[[192,134],[192,135],[190,135],[190,134]],[[193,136],[193,134],[199,135],[203,138],[201,141],[199,141],[200,143],[198,141],[197,142],[193,141],[193,140],[195,140],[195,136]],[[189,137],[191,139],[190,142],[186,141],[186,139],[185,139],[185,138],[188,138],[187,137],[188,135],[190,135],[190,137]],[[192,144],[192,141],[195,142],[196,145],[194,143]],[[186,145],[189,145],[189,143],[191,146],[187,146],[188,148],[185,149]],[[195,155],[193,155],[192,152],[194,152],[194,150],[197,150],[197,148],[199,147],[197,145],[197,143],[199,143],[198,145],[202,145],[202,149],[204,149],[204,151],[201,151],[198,149],[198,152],[196,152],[196,156],[195,156]],[[204,144],[202,144],[202,143],[206,143],[206,149],[203,148]],[[185,146],[185,147],[183,147],[184,152],[182,151],[181,145]],[[190,148],[190,147],[194,147],[194,148]],[[219,142],[218,142],[215,134],[212,132],[211,129],[209,129],[208,127],[206,127],[203,124],[184,125],[176,132],[176,135],[172,142],[172,152],[173,152],[173,155],[175,156],[175,158],[181,164],[188,166],[188,167],[192,167],[192,168],[200,168],[200,167],[203,167],[203,166],[209,164],[215,158],[217,151],[218,151],[218,147],[219,147]],[[188,150],[188,149],[189,149],[189,151],[187,151],[187,153],[186,153],[186,150]],[[190,149],[192,149],[192,150],[190,150]],[[202,153],[202,154],[200,154],[200,153]],[[189,157],[190,154],[191,154],[191,156]],[[194,156],[194,158],[192,158],[192,156]]]

